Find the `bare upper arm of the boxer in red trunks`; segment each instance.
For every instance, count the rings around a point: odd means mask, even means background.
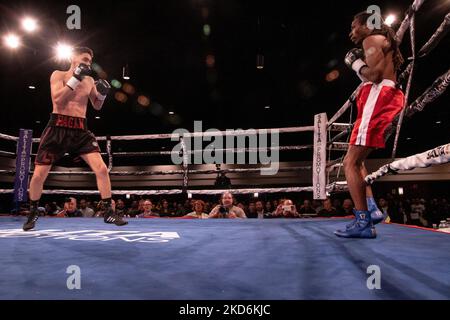
[[[367,80],[379,83],[383,80],[386,57],[383,53],[386,38],[373,35],[364,39],[363,48],[367,66],[361,68],[360,74]]]

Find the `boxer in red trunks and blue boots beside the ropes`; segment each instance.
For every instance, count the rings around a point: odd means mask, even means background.
[[[403,92],[396,87],[397,70],[403,58],[395,32],[385,24],[373,28],[368,24],[372,14],[357,14],[352,22],[350,39],[361,48],[350,50],[345,63],[364,82],[357,98],[358,115],[347,154],[345,176],[355,203],[355,220],[335,234],[347,238],[375,238],[374,225],[383,220],[364,177],[364,160],[376,148],[384,148],[385,131],[404,107]],[[378,17],[382,22],[381,17]],[[373,21],[373,20],[371,20]]]

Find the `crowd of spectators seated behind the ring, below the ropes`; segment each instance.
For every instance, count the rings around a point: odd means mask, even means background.
[[[228,194],[228,196],[225,196]],[[289,198],[288,198],[289,197]],[[388,221],[432,227],[450,217],[450,204],[446,198],[420,199],[387,194],[377,199],[378,207],[389,216]],[[131,197],[116,198],[115,210],[126,218],[302,218],[342,217],[353,215],[353,202],[349,198],[329,198],[323,201],[302,199],[298,195],[258,199],[251,195],[239,198],[225,193],[217,199],[183,199]],[[221,209],[222,207],[228,209]],[[26,212],[26,208],[22,208]],[[223,212],[222,212],[223,211]],[[55,217],[103,217],[104,208],[90,198],[67,198],[48,201],[40,208],[41,215]]]

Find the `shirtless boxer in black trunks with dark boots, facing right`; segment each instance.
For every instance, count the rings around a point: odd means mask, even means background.
[[[39,217],[37,207],[44,182],[55,162],[65,153],[81,157],[94,171],[98,190],[105,205],[104,221],[118,226],[127,224],[118,216],[111,203],[111,181],[100,155],[95,136],[86,126],[88,100],[100,110],[111,86],[105,80],[94,81],[91,63],[94,53],[86,47],[73,51],[70,69],[55,71],[50,77],[53,112],[41,136],[30,182],[30,213],[23,230],[31,230]]]

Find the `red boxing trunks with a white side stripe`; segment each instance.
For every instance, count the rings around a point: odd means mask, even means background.
[[[367,82],[356,97],[358,116],[350,138],[351,145],[384,148],[384,134],[402,111],[405,97],[392,80]]]

